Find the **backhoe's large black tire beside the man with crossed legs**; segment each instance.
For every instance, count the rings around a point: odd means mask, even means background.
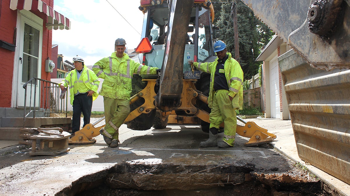
[[[140,90],[144,89],[147,85],[147,83],[142,82],[142,78],[140,75],[135,74],[131,80],[132,83],[132,91],[131,91],[131,97],[134,96],[136,93],[138,93]],[[130,105],[130,111],[132,112],[139,106],[145,103],[145,100],[143,98],[137,100],[135,103]],[[155,110],[148,114],[141,114],[138,117],[136,117],[134,120],[129,121],[126,123],[127,128],[132,130],[147,130],[151,129],[153,125],[153,119],[155,117]]]

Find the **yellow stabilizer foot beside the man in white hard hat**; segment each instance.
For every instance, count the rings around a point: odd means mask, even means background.
[[[98,120],[98,122],[104,120],[105,117]],[[96,140],[93,137],[100,135],[100,129],[102,129],[105,125],[100,127],[94,127],[92,124],[87,124],[85,127],[75,132],[75,136],[71,137],[68,141],[70,145],[85,145],[85,144],[94,144]]]

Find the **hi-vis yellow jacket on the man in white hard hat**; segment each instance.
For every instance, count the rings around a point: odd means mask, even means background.
[[[92,100],[94,101],[98,96],[98,85],[100,80],[95,73],[84,65],[83,71],[79,77],[77,77],[77,70],[72,70],[69,74],[62,80],[60,84],[64,87],[69,86],[70,93],[70,104],[73,105],[74,95],[78,93],[87,92],[93,90],[95,93],[92,94]]]

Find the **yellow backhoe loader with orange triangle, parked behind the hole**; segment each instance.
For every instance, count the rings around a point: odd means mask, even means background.
[[[136,48],[142,64],[161,68],[160,75],[134,75],[132,78],[131,113],[127,127],[147,130],[162,129],[168,123],[201,124],[209,132],[208,95],[210,75],[191,67],[188,60],[212,62],[216,59],[213,39],[214,8],[210,0],[141,0],[144,13],[142,40]],[[276,136],[254,122],[237,126],[237,134],[249,137],[246,146],[272,142]],[[71,144],[89,143],[91,132],[98,128],[87,125],[76,132]],[[222,127],[224,125],[222,124]],[[85,133],[89,137],[84,137]],[[77,137],[79,135],[79,138]]]

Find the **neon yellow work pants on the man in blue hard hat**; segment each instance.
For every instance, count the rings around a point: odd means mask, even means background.
[[[209,114],[210,128],[219,128],[224,122],[224,138],[223,141],[230,146],[235,144],[237,117],[236,110],[230,101],[228,90],[218,90],[213,96],[211,112]]]

